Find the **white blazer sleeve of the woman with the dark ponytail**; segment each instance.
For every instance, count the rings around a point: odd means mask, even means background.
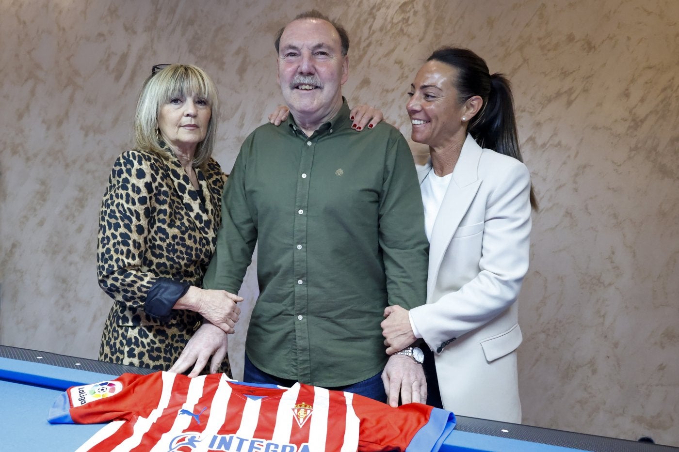
[[[474,200],[486,203],[478,273],[458,290],[411,309],[418,331],[437,353],[490,322],[519,296],[530,251],[530,174],[521,162],[507,159],[504,171],[483,181],[494,185],[487,198]],[[446,270],[441,267],[439,274]]]

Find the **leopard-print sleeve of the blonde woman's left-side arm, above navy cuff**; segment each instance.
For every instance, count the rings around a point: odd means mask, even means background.
[[[115,301],[143,308],[158,275],[144,269],[155,178],[141,153],[126,151],[113,164],[99,217],[99,286]]]

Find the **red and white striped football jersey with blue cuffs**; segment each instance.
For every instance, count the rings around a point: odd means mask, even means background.
[[[112,421],[78,449],[96,452],[437,451],[455,426],[453,413],[425,404],[168,372],[73,386],[48,421]]]

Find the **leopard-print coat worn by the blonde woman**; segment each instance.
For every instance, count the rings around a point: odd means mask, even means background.
[[[200,286],[215,250],[226,181],[210,159],[196,168],[204,204],[172,151],[126,151],[113,164],[99,219],[99,285],[115,302],[99,359],[167,370],[200,326],[200,315],[172,310],[162,322],[144,312],[160,277]],[[230,375],[228,360],[219,372]]]

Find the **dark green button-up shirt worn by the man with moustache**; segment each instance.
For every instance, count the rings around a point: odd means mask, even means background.
[[[356,132],[348,118],[345,101],[310,137],[290,116],[246,138],[204,278],[236,293],[257,242],[246,353],[262,371],[325,387],[382,371],[384,308],[426,300],[428,242],[408,145],[386,123]]]

